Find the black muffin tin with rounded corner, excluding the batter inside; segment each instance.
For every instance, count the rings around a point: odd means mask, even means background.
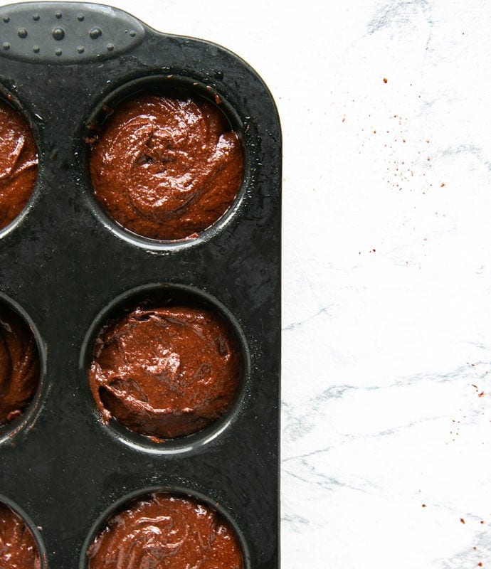
[[[245,174],[212,228],[158,242],[101,210],[86,139],[118,100],[176,87],[226,113]],[[4,501],[39,526],[49,569],[85,568],[110,512],[152,489],[209,501],[236,528],[245,568],[277,568],[281,135],[267,87],[213,43],[107,6],[33,3],[0,7],[0,96],[30,124],[40,161],[31,201],[0,232],[0,297],[29,321],[43,360],[31,407],[0,429]],[[155,290],[216,307],[244,360],[230,413],[163,443],[103,425],[87,378],[97,326],[118,302]]]

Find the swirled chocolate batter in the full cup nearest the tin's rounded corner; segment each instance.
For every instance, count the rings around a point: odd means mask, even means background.
[[[90,158],[97,198],[118,223],[159,240],[193,236],[231,206],[241,144],[204,99],[146,95],[107,120]]]

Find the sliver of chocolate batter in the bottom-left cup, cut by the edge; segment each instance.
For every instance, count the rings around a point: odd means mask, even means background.
[[[36,540],[26,523],[0,503],[0,568],[41,569]]]

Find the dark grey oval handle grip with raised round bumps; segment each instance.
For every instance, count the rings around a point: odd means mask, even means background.
[[[0,56],[28,63],[83,63],[120,55],[144,38],[130,14],[75,2],[29,2],[0,8]]]

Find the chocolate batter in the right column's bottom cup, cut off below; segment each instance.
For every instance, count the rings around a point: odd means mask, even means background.
[[[242,569],[222,516],[191,498],[152,494],[115,514],[87,553],[89,569]]]

